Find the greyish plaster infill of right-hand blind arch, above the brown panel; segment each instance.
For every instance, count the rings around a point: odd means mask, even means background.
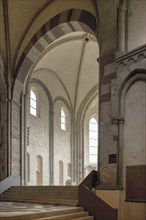
[[[125,97],[123,164],[146,164],[146,80],[132,84]]]

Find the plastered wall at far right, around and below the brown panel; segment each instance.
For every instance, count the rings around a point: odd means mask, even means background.
[[[123,190],[120,192],[120,220],[144,220],[146,204],[126,202],[126,166],[146,164],[146,80],[137,80],[125,96],[123,132]],[[135,175],[134,179],[137,178]],[[133,180],[134,182],[135,180]],[[137,180],[138,181],[138,180]],[[140,186],[137,185],[139,188]]]

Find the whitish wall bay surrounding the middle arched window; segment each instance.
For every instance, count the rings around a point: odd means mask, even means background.
[[[61,108],[66,114],[66,130],[61,129]],[[71,118],[66,105],[58,100],[54,106],[54,184],[66,185],[71,181]]]

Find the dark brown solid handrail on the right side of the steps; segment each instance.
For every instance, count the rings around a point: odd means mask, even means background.
[[[93,170],[78,186],[78,206],[83,207],[95,220],[117,220],[117,209],[110,207],[93,191],[98,181],[98,172]]]

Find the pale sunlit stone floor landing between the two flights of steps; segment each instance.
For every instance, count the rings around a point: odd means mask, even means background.
[[[0,217],[26,215],[38,212],[52,212],[67,209],[74,209],[74,207],[40,205],[18,202],[0,202]]]

